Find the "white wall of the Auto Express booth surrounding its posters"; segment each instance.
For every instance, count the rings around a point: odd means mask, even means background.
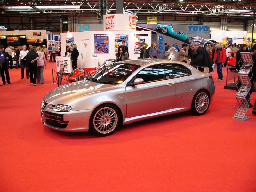
[[[94,34],[108,34],[109,48],[108,54],[97,54],[99,65],[104,63],[104,60],[115,59],[115,34],[128,34],[128,50],[129,59],[137,59],[140,54],[134,54],[134,46],[138,42],[138,35],[144,34],[145,43],[151,45],[151,31],[81,31],[81,32],[71,32],[71,33],[61,33],[61,55],[65,55],[66,52],[66,36],[74,36],[74,44],[77,45],[77,50],[79,52],[77,66],[91,68],[92,65],[92,54],[95,50],[94,44]],[[85,47],[84,44],[87,46]],[[82,59],[83,53],[83,59]]]

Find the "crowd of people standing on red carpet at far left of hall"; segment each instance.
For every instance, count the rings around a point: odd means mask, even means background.
[[[60,47],[59,47],[60,48]],[[44,83],[44,68],[46,68],[47,54],[50,54],[50,61],[55,61],[56,47],[54,44],[33,47],[29,45],[14,46],[14,58],[16,62],[16,69],[21,69],[21,79],[24,79],[24,72],[26,70],[26,78],[30,79],[30,84],[34,86],[37,83]],[[56,62],[56,61],[55,61]],[[3,85],[11,84],[9,69],[13,69],[12,49],[10,45],[4,50],[4,46],[0,45],[0,71]],[[0,86],[3,86],[0,84]]]

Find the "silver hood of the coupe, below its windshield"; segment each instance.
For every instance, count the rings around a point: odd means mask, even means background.
[[[119,84],[102,84],[84,79],[53,89],[44,96],[44,100],[52,105],[65,104],[73,107],[77,103],[76,100],[81,101],[103,91],[113,90],[118,86]]]

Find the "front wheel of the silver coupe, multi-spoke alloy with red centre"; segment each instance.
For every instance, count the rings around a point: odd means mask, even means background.
[[[97,107],[90,118],[90,130],[97,136],[111,135],[120,124],[120,114],[115,106],[105,104]]]

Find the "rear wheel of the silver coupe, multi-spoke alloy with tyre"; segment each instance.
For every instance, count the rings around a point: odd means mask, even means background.
[[[209,93],[204,90],[198,91],[192,100],[191,113],[194,115],[203,115],[208,110],[209,105]]]

